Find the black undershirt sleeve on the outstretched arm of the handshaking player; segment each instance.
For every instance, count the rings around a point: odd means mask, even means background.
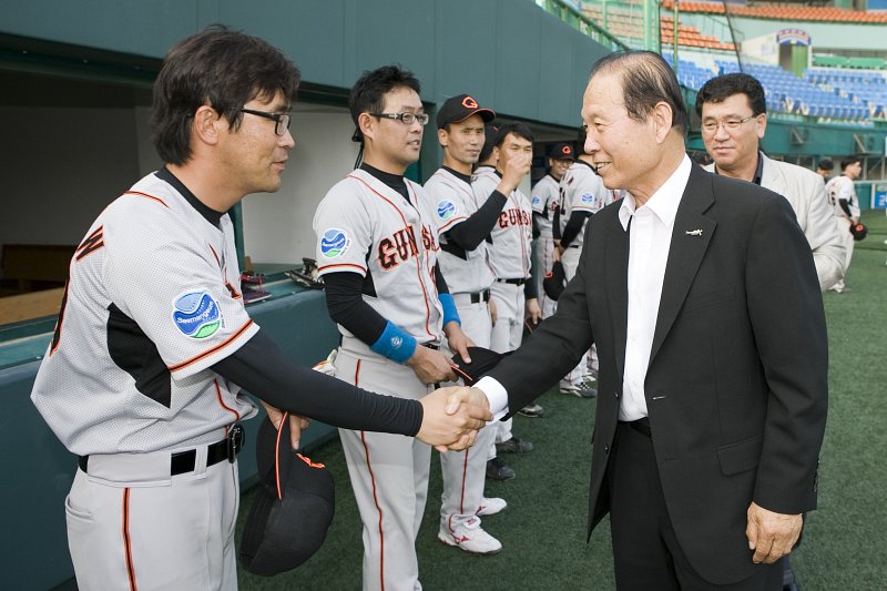
[[[414,437],[422,424],[418,400],[373,394],[302,367],[262,330],[212,369],[275,408],[334,427]]]

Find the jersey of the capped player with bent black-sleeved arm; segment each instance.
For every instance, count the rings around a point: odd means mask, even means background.
[[[489,262],[487,242],[465,253],[465,258],[446,249],[446,233],[468,220],[478,208],[471,184],[446,169],[439,169],[425,183],[428,198],[421,202],[429,220],[437,222],[441,251],[438,264],[452,294],[478,293],[487,289],[496,277]]]

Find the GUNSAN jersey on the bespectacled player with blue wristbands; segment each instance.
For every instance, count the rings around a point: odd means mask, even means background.
[[[373,309],[418,343],[439,342],[436,225],[414,205],[430,197],[421,185],[405,182],[411,203],[359,169],[336,183],[314,214],[317,268],[322,276],[369,275],[375,295],[365,289],[364,300]],[[354,336],[340,325],[339,332]]]

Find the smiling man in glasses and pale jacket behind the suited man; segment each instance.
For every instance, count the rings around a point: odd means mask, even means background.
[[[771,160],[759,149],[767,129],[764,89],[744,73],[713,78],[696,95],[702,141],[714,161],[706,170],[750,181],[783,195],[795,212],[816,263],[819,288],[844,277],[844,244],[830,214],[819,175]]]

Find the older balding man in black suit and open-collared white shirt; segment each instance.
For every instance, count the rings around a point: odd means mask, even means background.
[[[809,245],[785,198],[691,163],[660,55],[595,63],[582,119],[629,195],[590,218],[557,314],[477,387],[513,412],[597,343],[589,536],[610,512],[618,587],[779,589],[826,419]]]

